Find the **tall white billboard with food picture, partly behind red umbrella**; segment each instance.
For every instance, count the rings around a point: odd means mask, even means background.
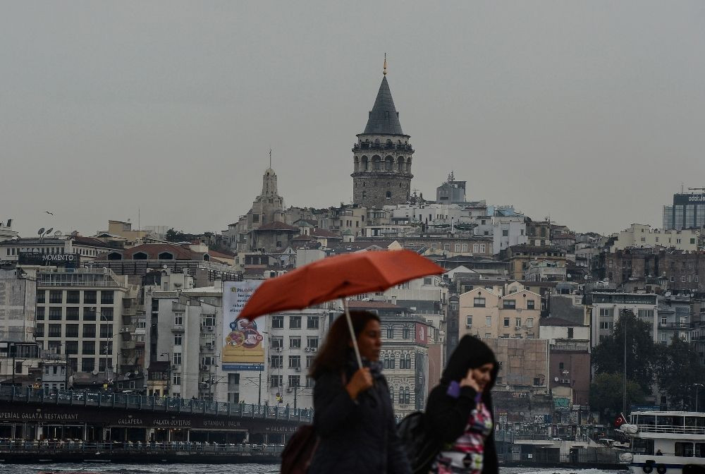
[[[262,332],[266,330],[266,317],[258,317],[255,321],[236,320],[261,283],[259,280],[247,280],[223,284],[221,361],[225,371],[264,370]]]

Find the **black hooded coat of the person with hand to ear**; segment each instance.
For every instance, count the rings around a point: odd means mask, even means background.
[[[470,413],[474,410],[477,392],[471,387],[460,387],[460,396],[457,398],[448,395],[450,382],[460,382],[467,375],[467,370],[480,367],[486,363],[494,363],[491,380],[482,392],[482,401],[492,413],[492,399],[490,390],[497,379],[497,360],[492,350],[476,337],[463,336],[458,347],[448,360],[446,370],[443,370],[441,384],[434,388],[429,395],[425,423],[432,437],[443,444],[453,443],[464,432]],[[494,418],[493,418],[494,423]],[[494,429],[485,439],[484,463],[482,474],[498,473],[497,453],[494,446]]]

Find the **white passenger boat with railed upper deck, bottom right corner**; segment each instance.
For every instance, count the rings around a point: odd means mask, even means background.
[[[620,456],[632,474],[682,474],[683,466],[705,468],[705,413],[635,411],[620,431],[632,438]]]

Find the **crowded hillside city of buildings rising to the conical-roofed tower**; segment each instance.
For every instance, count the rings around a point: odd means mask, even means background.
[[[488,202],[451,169],[418,190],[413,163],[431,157],[415,154],[390,82],[385,68],[376,96],[362,98],[373,105],[350,130],[348,168],[325,171],[350,174],[350,203],[285,205],[288,177],[270,162],[261,193],[233,202],[243,214],[214,222],[219,232],[105,216],[104,229],[27,236],[13,230],[21,215],[6,217],[0,385],[311,410],[308,370],[341,303],[243,323],[240,295],[334,255],[407,249],[445,272],[348,300],[381,318],[398,418],[424,408],[465,334],[500,364],[498,440],[604,438],[620,413],[703,408],[705,189],[675,190],[653,209],[660,228],[625,216],[610,235]]]

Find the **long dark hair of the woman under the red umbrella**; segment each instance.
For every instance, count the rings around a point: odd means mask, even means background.
[[[360,337],[368,322],[372,320],[379,322],[379,316],[369,311],[350,311],[350,319],[353,320],[355,339]],[[345,363],[348,362],[350,341],[350,329],[343,313],[338,315],[331,329],[328,330],[326,340],[311,365],[309,375],[317,379],[323,372],[343,370]]]

